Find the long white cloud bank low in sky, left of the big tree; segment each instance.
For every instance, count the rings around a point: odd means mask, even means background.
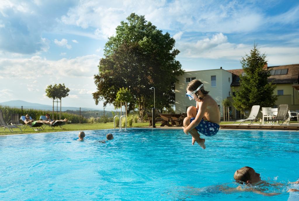
[[[73,59],[62,58],[57,61],[40,56],[31,58],[0,59],[0,75],[7,79],[33,79],[51,76],[90,77],[98,73],[98,55],[86,55]],[[12,70],[13,69],[13,70]],[[34,73],[33,73],[34,72]]]

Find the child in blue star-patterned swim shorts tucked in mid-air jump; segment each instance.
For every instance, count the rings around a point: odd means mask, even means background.
[[[205,149],[205,139],[200,138],[199,133],[205,136],[213,136],[219,131],[220,111],[216,101],[208,95],[209,91],[201,81],[192,80],[187,85],[186,95],[190,100],[196,101],[196,107],[190,106],[187,109],[187,117],[184,119],[184,133],[192,135],[192,144],[195,141]]]

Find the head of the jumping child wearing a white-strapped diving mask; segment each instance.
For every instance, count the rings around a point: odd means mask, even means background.
[[[202,82],[199,80],[192,80],[191,82],[189,82],[189,84],[186,87],[186,90],[186,95],[189,97],[190,100],[195,99],[195,96],[197,96],[198,99],[202,100],[204,95],[209,93],[209,91],[205,91]]]

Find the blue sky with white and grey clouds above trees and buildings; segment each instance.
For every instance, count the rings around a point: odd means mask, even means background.
[[[240,69],[254,43],[268,66],[299,64],[298,0],[0,1],[0,102],[51,105],[45,89],[64,83],[63,106],[102,109],[93,77],[108,37],[131,13],[176,40],[185,71]]]

